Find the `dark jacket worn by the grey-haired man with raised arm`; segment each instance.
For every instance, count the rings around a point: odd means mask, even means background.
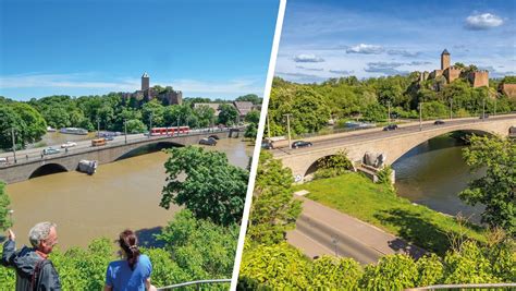
[[[50,291],[61,290],[59,275],[52,262],[40,257],[36,250],[24,246],[16,251],[14,241],[8,240],[3,244],[3,254],[0,262],[5,267],[14,267],[16,270],[16,291]],[[33,289],[30,289],[33,276],[38,265]]]

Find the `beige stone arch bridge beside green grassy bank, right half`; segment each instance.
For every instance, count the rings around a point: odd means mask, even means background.
[[[395,131],[382,129],[361,130],[344,134],[307,138],[314,145],[299,149],[274,149],[273,156],[281,159],[283,166],[292,169],[296,182],[303,182],[316,162],[327,156],[345,150],[353,161],[361,161],[366,151],[384,153],[386,165],[392,165],[400,157],[417,145],[442,134],[465,131],[479,134],[509,135],[509,129],[516,126],[516,114],[497,116],[489,119],[456,119],[434,125],[433,121],[401,125]]]

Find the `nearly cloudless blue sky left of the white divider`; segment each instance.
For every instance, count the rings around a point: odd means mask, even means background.
[[[278,0],[0,0],[0,95],[263,94]]]

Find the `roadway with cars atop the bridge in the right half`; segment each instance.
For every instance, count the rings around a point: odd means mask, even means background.
[[[470,124],[470,123],[478,123],[478,122],[492,122],[495,120],[511,120],[511,119],[514,119],[516,122],[516,114],[490,117],[487,120],[480,120],[478,118],[445,120],[444,121],[445,123],[441,125],[433,125],[433,122],[425,122],[421,126],[421,131],[433,130],[437,126],[451,128],[451,126],[456,126],[456,125],[462,125],[462,124]],[[311,147],[297,148],[297,149],[288,149],[287,147],[285,147],[285,148],[272,149],[271,153],[274,155],[274,157],[284,157],[292,154],[309,153],[312,150],[333,147],[333,146],[355,144],[355,143],[366,142],[366,141],[371,141],[371,140],[381,140],[384,137],[403,135],[403,134],[415,133],[415,132],[419,132],[419,122],[403,124],[403,125],[400,125],[400,129],[395,131],[389,131],[389,132],[384,132],[382,131],[382,129],[373,129],[373,130],[349,132],[347,134],[319,136],[317,137],[319,138],[319,141],[314,142],[314,146]],[[306,138],[306,141],[310,141],[310,140],[316,140],[316,138]]]

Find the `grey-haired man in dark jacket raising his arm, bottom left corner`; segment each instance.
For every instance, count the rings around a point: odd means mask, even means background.
[[[37,223],[28,232],[33,247],[23,246],[20,251],[16,251],[14,232],[8,231],[0,263],[16,270],[16,291],[61,290],[59,275],[52,262],[47,259],[58,243],[56,227],[52,222]]]

